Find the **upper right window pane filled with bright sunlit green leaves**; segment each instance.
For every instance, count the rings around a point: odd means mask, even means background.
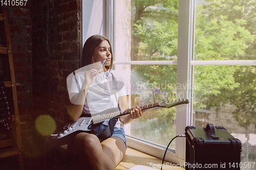
[[[195,60],[255,60],[256,1],[196,1]]]

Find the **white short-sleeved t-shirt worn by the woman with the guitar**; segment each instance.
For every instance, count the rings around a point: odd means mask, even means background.
[[[84,83],[84,72],[79,71],[73,76],[71,86],[69,88],[70,93],[79,93]],[[95,81],[90,86],[87,95],[86,102],[83,107],[83,114],[97,114],[110,108],[118,107],[118,98],[120,96],[127,95],[127,81],[116,70],[102,72],[97,75]],[[72,96],[70,95],[70,99]],[[116,128],[120,128],[120,120],[116,123]],[[109,119],[105,120],[104,125],[109,125]]]

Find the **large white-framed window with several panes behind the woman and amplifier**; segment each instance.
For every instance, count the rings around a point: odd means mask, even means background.
[[[126,126],[130,147],[161,158],[186,126],[214,124],[243,142],[242,162],[255,160],[255,1],[93,2],[92,7],[107,10],[101,20],[92,18],[97,11],[90,15],[88,23],[99,27],[88,26],[86,36],[111,39],[114,69],[131,80],[130,107],[166,99],[190,101],[148,110]],[[166,159],[185,161],[185,138],[176,138]]]

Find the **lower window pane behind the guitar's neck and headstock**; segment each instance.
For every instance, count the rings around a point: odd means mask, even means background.
[[[176,99],[177,65],[134,65],[131,106]],[[176,108],[153,108],[131,123],[131,136],[167,146],[175,136]],[[175,149],[175,142],[170,148]]]

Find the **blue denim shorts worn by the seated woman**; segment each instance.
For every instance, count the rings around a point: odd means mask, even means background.
[[[108,128],[108,126],[101,124],[100,126],[95,127],[94,129],[96,130],[97,134],[100,135],[102,132],[104,132]],[[127,149],[127,144],[126,144],[126,138],[124,134],[123,128],[114,128],[113,135],[111,137],[119,137],[120,139],[123,140],[125,143],[126,149]],[[102,140],[100,140],[101,142]]]

